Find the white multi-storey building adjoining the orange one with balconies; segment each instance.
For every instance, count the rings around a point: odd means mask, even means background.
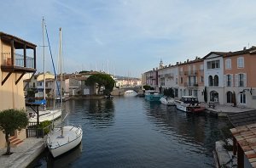
[[[163,66],[160,61],[160,68],[158,69],[158,83],[161,91],[172,88],[174,96],[178,97],[178,67],[169,64]]]

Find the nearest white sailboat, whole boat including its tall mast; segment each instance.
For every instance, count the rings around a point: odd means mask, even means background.
[[[59,58],[61,62],[61,28],[60,28],[60,48]],[[61,70],[61,64],[60,64]],[[62,72],[61,72],[62,81]],[[62,89],[62,82],[61,82]],[[55,127],[49,134],[46,140],[49,152],[54,158],[61,154],[67,153],[69,150],[75,148],[82,141],[83,131],[81,126],[63,126],[63,109],[62,109],[62,92],[61,92],[61,127]]]

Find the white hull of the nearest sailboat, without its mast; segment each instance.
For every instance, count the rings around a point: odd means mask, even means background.
[[[81,143],[83,131],[77,126],[63,126],[63,136],[61,137],[61,128],[56,128],[49,133],[47,146],[53,157],[67,153]]]

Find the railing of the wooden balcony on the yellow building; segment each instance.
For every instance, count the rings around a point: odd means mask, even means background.
[[[26,66],[25,66],[26,62]],[[12,59],[11,59],[11,53],[2,53],[2,64],[5,66],[20,66],[20,67],[26,67],[26,68],[34,68],[34,59],[32,57],[26,56],[26,61],[24,61],[24,56],[15,53],[15,61],[14,64],[12,64]]]

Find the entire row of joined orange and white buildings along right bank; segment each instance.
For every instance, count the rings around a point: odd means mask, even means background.
[[[252,47],[236,52],[211,52],[203,59],[187,59],[183,63],[177,62],[176,66],[163,66],[161,61],[158,69],[143,73],[143,86],[178,87],[178,98],[196,96],[201,102],[204,102],[206,87],[207,102],[234,105],[236,100],[240,107],[256,109],[255,54],[256,47]],[[157,81],[155,76],[158,76]]]

